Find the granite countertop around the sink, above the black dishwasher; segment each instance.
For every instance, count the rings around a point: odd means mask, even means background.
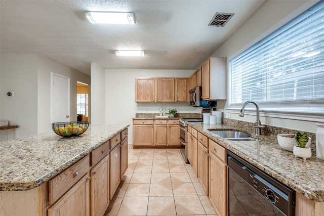
[[[293,152],[281,149],[273,137],[251,134],[252,137],[261,141],[238,142],[226,140],[208,130],[236,129],[240,132],[246,132],[247,130],[244,128],[200,122],[188,122],[188,125],[308,199],[324,202],[324,160],[316,158],[314,151],[312,151],[311,158],[304,160],[295,157]]]

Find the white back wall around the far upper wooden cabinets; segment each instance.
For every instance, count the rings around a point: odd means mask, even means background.
[[[129,143],[132,143],[135,113],[158,113],[160,106],[166,111],[176,108],[178,113],[200,112],[188,103],[136,103],[136,77],[189,77],[195,70],[129,70],[106,69],[106,123],[130,124]]]

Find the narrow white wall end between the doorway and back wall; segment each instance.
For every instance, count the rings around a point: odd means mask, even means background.
[[[105,69],[95,62],[91,62],[91,123],[105,124]]]

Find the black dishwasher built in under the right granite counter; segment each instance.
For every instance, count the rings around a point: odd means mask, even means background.
[[[228,215],[295,215],[293,189],[228,150],[227,166]]]

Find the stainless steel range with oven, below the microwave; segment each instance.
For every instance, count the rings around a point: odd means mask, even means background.
[[[187,131],[188,131],[188,124],[187,122],[202,122],[203,118],[181,118],[179,119],[180,125],[180,152],[181,155],[186,163],[188,161],[188,150],[187,150]]]

